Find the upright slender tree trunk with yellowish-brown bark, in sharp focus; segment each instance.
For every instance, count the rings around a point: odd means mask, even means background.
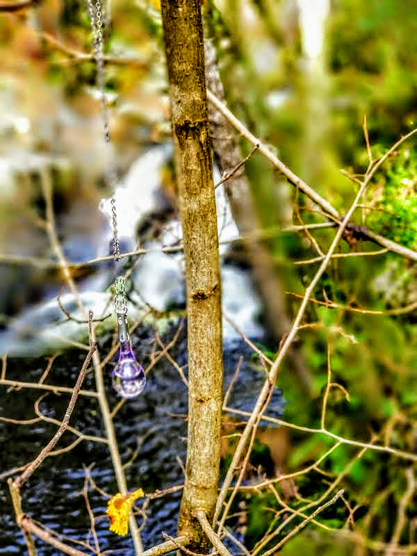
[[[199,521],[213,518],[222,420],[222,320],[218,231],[207,118],[199,0],[162,0],[179,206],[186,257],[188,451],[179,534],[211,546]]]

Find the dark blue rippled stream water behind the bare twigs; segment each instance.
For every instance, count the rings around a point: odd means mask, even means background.
[[[150,331],[142,329],[136,334],[136,353],[144,366],[149,361],[152,349]],[[167,334],[165,342],[173,336]],[[108,344],[101,345],[101,353],[106,353]],[[186,362],[186,341],[183,336],[171,351],[172,357],[180,365]],[[49,384],[73,386],[83,362],[84,353],[71,351],[58,356],[47,379]],[[243,342],[236,342],[224,351],[224,386],[234,374],[236,363],[243,355],[240,378],[234,387],[229,405],[239,409],[252,410],[256,394],[263,382],[263,373],[255,368],[250,350]],[[7,378],[36,382],[47,364],[46,358],[9,359]],[[106,389],[111,407],[117,403],[110,383],[111,366],[106,371]],[[88,375],[84,389],[94,389],[94,376]],[[9,391],[0,386],[0,415],[15,419],[35,417],[33,403],[42,391],[23,389]],[[65,413],[68,395],[49,393],[40,402],[42,412],[61,419]],[[279,401],[279,400],[278,400]],[[279,414],[281,407],[277,407]],[[152,493],[156,489],[167,489],[181,484],[183,475],[177,457],[186,459],[186,386],[167,359],[163,358],[148,376],[147,388],[136,400],[126,402],[115,417],[115,430],[120,445],[122,461],[129,461],[141,442],[138,456],[126,468],[129,490],[142,489]],[[271,414],[271,412],[269,412]],[[272,413],[273,414],[273,413]],[[95,398],[80,396],[72,415],[70,425],[85,434],[104,435],[101,425],[99,404]],[[33,425],[13,425],[0,422],[0,473],[31,461],[56,432],[56,425],[35,423]],[[76,437],[66,432],[57,448],[63,448]],[[110,455],[106,445],[83,441],[70,452],[47,458],[22,488],[22,507],[34,520],[67,537],[79,541],[90,541],[90,519],[83,498],[85,470],[91,466],[91,475],[100,489],[113,495],[117,486],[113,477]],[[161,532],[174,535],[177,530],[177,514],[181,491],[149,502],[146,520],[139,516],[142,540],[145,547],[163,541]],[[117,537],[108,531],[108,520],[104,516],[107,499],[98,491],[89,489],[90,505],[97,518],[96,530],[100,548],[115,550],[115,554],[133,555],[129,537]],[[141,501],[138,502],[140,507]],[[0,481],[0,555],[24,554],[22,534],[15,525],[13,509],[10,505],[6,479]],[[100,518],[100,516],[103,516]],[[36,541],[39,556],[59,555],[60,552],[42,541]],[[79,547],[80,550],[85,550]],[[86,553],[87,550],[85,550]]]

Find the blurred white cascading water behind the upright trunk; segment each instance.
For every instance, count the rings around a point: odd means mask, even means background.
[[[117,187],[115,191],[117,225],[123,250],[134,247],[138,224],[163,207],[160,173],[161,167],[170,156],[172,156],[170,145],[153,147],[131,165],[126,177]],[[219,177],[217,172],[215,179]],[[238,228],[231,216],[229,202],[222,187],[216,190],[216,203],[220,240],[238,237]],[[110,215],[110,199],[102,199],[100,208]],[[108,220],[110,221],[110,218]],[[110,225],[100,237],[101,243],[97,255],[107,255],[112,238]],[[160,240],[145,243],[144,247],[154,251],[142,256],[133,272],[134,291],[131,298],[134,304],[129,303],[131,320],[139,318],[147,311],[148,305],[159,311],[165,311],[172,306],[185,305],[183,255],[181,253],[168,255],[161,252],[161,247],[176,244],[180,240],[181,226],[177,218],[172,218],[164,226]],[[224,254],[227,248],[227,245],[221,245],[221,254]],[[96,318],[103,311],[113,313],[113,304],[108,304],[111,301],[111,294],[106,292],[113,279],[111,267],[112,263],[100,265],[98,272],[85,279],[80,285],[83,302],[93,311]],[[63,295],[61,302],[72,316],[82,318],[70,293]],[[256,338],[263,334],[257,322],[261,312],[261,302],[247,271],[222,263],[222,304],[224,311],[238,323],[247,336]],[[65,316],[56,298],[44,299],[39,304],[24,309],[19,316],[10,321],[8,328],[0,333],[0,353],[8,352],[15,356],[42,354],[46,350],[65,347],[69,340],[80,340],[85,333],[81,329],[83,327],[76,322],[63,321]],[[106,320],[106,324],[114,325],[113,315]],[[238,337],[234,328],[226,320],[223,322],[223,337],[224,341]]]

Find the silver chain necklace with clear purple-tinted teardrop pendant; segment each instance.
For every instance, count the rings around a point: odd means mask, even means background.
[[[108,109],[105,91],[104,76],[104,39],[103,39],[103,12],[101,1],[88,0],[88,15],[94,35],[95,61],[97,66],[97,87],[101,97],[101,115],[103,118],[104,139],[106,145],[110,144],[110,125],[108,120]],[[106,185],[113,192],[117,183],[115,165],[111,163],[105,174]],[[111,198],[111,223],[113,227],[113,257],[120,261],[120,245],[117,235],[117,212],[115,197]],[[145,388],[146,377],[143,368],[136,361],[133,354],[129,326],[127,322],[127,302],[125,293],[124,277],[117,276],[114,284],[115,289],[115,311],[117,316],[117,333],[120,343],[119,360],[112,373],[113,387],[122,398],[136,398]]]

